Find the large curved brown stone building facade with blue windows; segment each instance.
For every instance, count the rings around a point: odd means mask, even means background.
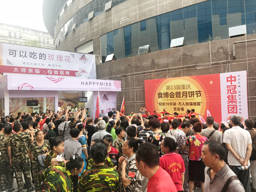
[[[256,1],[45,0],[43,6],[56,49],[99,55],[97,78],[122,81],[117,108],[123,95],[127,113],[145,105],[145,79],[246,70],[249,118],[256,117]],[[233,27],[245,32],[232,36]],[[184,47],[170,49],[180,37]],[[145,45],[151,53],[138,55]],[[104,63],[113,53],[116,60]]]

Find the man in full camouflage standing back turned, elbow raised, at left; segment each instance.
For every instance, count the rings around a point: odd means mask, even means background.
[[[16,173],[16,181],[18,185],[18,192],[22,192],[24,189],[22,173],[24,174],[24,179],[28,190],[34,190],[31,183],[30,174],[30,159],[28,155],[28,145],[29,142],[34,141],[34,132],[31,131],[30,134],[22,132],[22,125],[20,123],[15,123],[13,125],[13,130],[15,134],[12,135],[8,140],[8,156],[10,159],[10,164],[13,166]]]

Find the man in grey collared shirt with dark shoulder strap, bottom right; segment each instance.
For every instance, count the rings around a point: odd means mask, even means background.
[[[204,189],[205,192],[224,191],[228,192],[242,192],[244,187],[238,180],[236,174],[225,163],[226,156],[225,148],[216,140],[206,141],[202,147],[202,160],[205,164],[204,176]],[[233,176],[234,179],[227,185],[226,182]]]

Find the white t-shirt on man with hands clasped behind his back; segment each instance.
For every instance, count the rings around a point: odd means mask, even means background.
[[[240,126],[233,126],[231,129],[224,132],[223,143],[230,143],[238,156],[245,159],[247,145],[252,142],[248,131],[242,129]],[[241,163],[231,152],[228,152],[227,160],[229,165],[241,166]],[[250,165],[250,161],[248,161],[248,165]]]

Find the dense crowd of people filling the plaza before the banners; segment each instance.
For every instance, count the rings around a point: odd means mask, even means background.
[[[1,118],[1,191],[256,191],[255,121],[145,108]],[[252,147],[253,146],[253,147]],[[24,176],[24,180],[23,180]],[[33,186],[34,183],[34,186]]]

